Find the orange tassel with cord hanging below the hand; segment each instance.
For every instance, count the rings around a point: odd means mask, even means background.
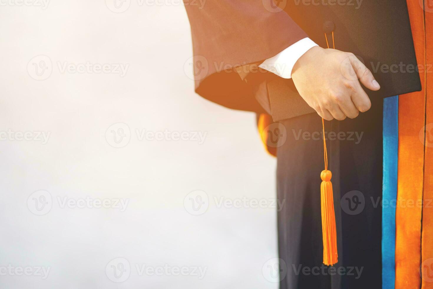
[[[335,225],[334,195],[332,191],[332,173],[328,170],[328,153],[326,151],[325,122],[323,126],[323,149],[325,170],[320,174],[320,204],[322,210],[323,264],[332,266],[338,262],[337,231]]]

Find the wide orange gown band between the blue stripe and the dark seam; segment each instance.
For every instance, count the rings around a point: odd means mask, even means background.
[[[422,4],[422,2],[421,2]],[[418,65],[425,64],[424,11],[418,0],[407,0]],[[390,53],[392,53],[390,51]],[[422,66],[423,67],[423,66]],[[398,184],[395,232],[395,288],[419,289],[421,284],[421,217],[425,121],[425,74],[422,91],[403,94],[398,105]]]

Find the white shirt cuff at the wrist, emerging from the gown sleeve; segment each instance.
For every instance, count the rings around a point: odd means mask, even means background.
[[[259,67],[271,71],[282,78],[291,78],[292,69],[297,60],[314,46],[318,45],[310,38],[301,39],[274,57],[266,59]]]

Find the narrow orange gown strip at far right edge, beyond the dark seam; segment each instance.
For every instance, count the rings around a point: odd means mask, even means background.
[[[426,8],[425,17],[428,70],[426,73],[426,127],[420,130],[421,135],[425,132],[424,206],[421,239],[421,269],[423,275],[421,288],[433,289],[433,68],[430,66],[433,65],[433,7]]]

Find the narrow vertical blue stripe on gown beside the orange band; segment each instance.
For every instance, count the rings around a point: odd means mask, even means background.
[[[398,95],[383,104],[382,289],[395,287],[395,207],[397,201]]]

